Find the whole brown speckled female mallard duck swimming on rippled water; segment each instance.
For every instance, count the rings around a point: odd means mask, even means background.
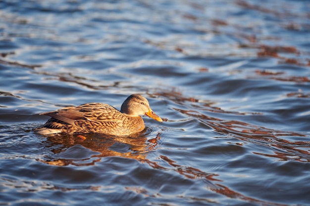
[[[122,104],[120,111],[108,104],[88,103],[40,115],[52,117],[46,124],[34,129],[43,135],[63,132],[125,136],[145,128],[140,115],[147,115],[162,122],[150,108],[148,100],[139,94],[130,95]]]

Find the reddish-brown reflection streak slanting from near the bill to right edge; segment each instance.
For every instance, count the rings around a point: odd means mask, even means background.
[[[297,160],[301,162],[310,162],[310,142],[306,141],[289,141],[281,139],[281,137],[300,136],[306,135],[297,132],[286,132],[274,129],[268,129],[253,124],[243,123],[240,121],[223,121],[220,119],[208,117],[195,111],[187,111],[176,109],[177,111],[194,117],[204,124],[212,127],[216,132],[222,135],[234,136],[243,142],[251,142],[254,144],[267,146],[269,148],[277,148],[274,154],[255,153],[267,157],[274,157],[280,160]],[[303,149],[298,149],[303,148]]]

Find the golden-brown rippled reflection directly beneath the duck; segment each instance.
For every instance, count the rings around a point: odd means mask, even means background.
[[[46,157],[44,160],[38,161],[49,165],[94,165],[104,157],[124,157],[137,159],[140,161],[146,160],[147,154],[151,152],[157,145],[157,140],[160,139],[160,133],[154,135],[150,139],[150,132],[144,131],[131,136],[112,136],[103,134],[73,134],[73,135],[51,135],[46,136],[52,147],[52,157]],[[152,135],[151,135],[152,136]],[[68,149],[80,145],[84,150],[92,152],[90,157],[85,160],[68,159],[65,153]],[[53,158],[55,155],[63,158]],[[60,155],[59,155],[60,154]]]

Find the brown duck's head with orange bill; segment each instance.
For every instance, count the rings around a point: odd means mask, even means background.
[[[132,94],[127,97],[120,108],[120,112],[130,116],[146,115],[162,123],[161,118],[151,109],[148,100],[139,94]]]

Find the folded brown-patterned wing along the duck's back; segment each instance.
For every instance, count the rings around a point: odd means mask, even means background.
[[[56,111],[42,113],[64,123],[76,125],[76,121],[120,122],[124,115],[114,107],[102,103],[88,103],[77,107],[65,107]]]

